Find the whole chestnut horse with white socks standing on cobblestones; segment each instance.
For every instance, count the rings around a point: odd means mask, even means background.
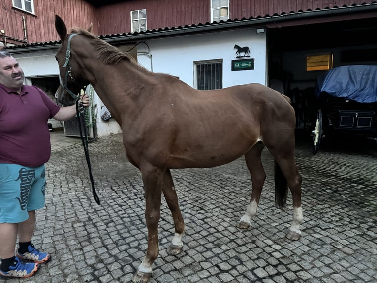
[[[56,96],[72,105],[83,86],[92,84],[123,130],[126,156],[142,175],[148,248],[132,281],[145,283],[158,256],[161,194],[172,213],[175,235],[169,254],[182,251],[185,222],[170,173],[172,168],[208,168],[244,156],[251,174],[250,203],[237,227],[246,229],[256,214],[266,174],[261,152],[275,160],[275,201],[293,197],[293,221],[287,238],[301,236],[301,176],[294,158],[296,117],[290,100],[257,83],[201,91],[167,74],[139,66],[127,54],[91,33],[72,29],[56,16],[62,40],[56,54],[61,86]],[[72,98],[73,97],[73,98]]]

